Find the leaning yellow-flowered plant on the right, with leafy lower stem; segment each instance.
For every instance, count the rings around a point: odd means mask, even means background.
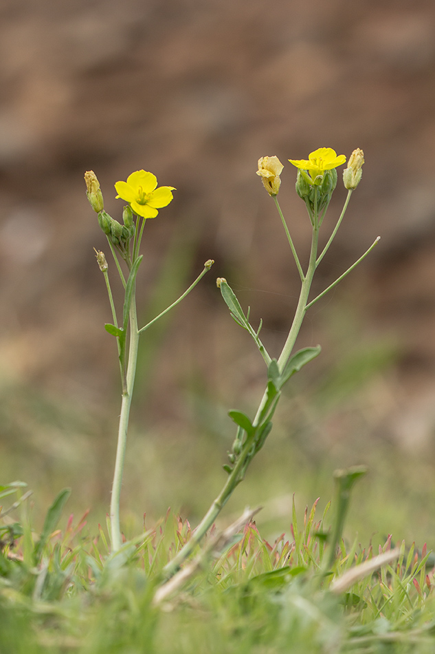
[[[310,299],[309,295],[315,271],[322,261],[326,251],[329,249],[329,246],[331,246],[331,243],[333,242],[337,229],[344,217],[353,189],[348,190],[348,196],[344,202],[342,213],[339,216],[337,224],[326,242],[324,249],[319,254],[318,244],[320,227],[322,226],[322,221],[328,209],[331,195],[337,184],[337,171],[335,168],[344,164],[346,157],[342,154],[337,156],[337,153],[332,148],[321,147],[311,152],[308,159],[290,159],[289,161],[298,168],[296,190],[298,191],[299,196],[304,199],[311,220],[311,250],[309,262],[306,266],[302,266],[300,263],[293,240],[291,239],[287,222],[278,202],[278,191],[281,184],[280,175],[284,168],[282,163],[276,156],[261,157],[258,160],[258,170],[256,173],[260,176],[267,193],[269,193],[269,196],[273,198],[276,204],[291,247],[291,252],[293,253],[298,268],[301,280],[298,305],[295,308],[295,314],[287,335],[287,340],[285,341],[278,358],[274,359],[269,355],[269,352],[267,352],[262,341],[260,341],[259,334],[261,321],[260,326],[254,328],[249,323],[249,308],[247,311],[243,310],[225,277],[219,277],[217,279],[217,286],[221,291],[225,303],[230,309],[233,319],[238,325],[243,327],[249,335],[251,335],[260,355],[265,361],[267,366],[267,384],[254,418],[250,418],[245,413],[238,410],[229,412],[230,418],[234,423],[236,423],[237,430],[236,437],[232,444],[232,450],[228,453],[228,463],[224,466],[228,473],[227,481],[219,495],[214,499],[214,502],[210,506],[207,514],[205,514],[203,520],[201,520],[201,523],[199,523],[197,528],[192,532],[190,540],[188,540],[186,545],[184,545],[179,553],[177,553],[177,556],[175,556],[175,558],[164,568],[164,572],[168,576],[175,573],[175,571],[177,571],[177,569],[182,565],[183,561],[186,560],[186,558],[188,558],[188,556],[190,556],[194,551],[195,547],[197,547],[199,540],[201,540],[208,529],[210,529],[214,520],[216,520],[219,511],[221,511],[222,507],[230,498],[236,486],[243,480],[252,458],[254,458],[258,450],[263,447],[272,428],[271,420],[274,416],[276,405],[280,399],[282,387],[285,386],[285,383],[287,383],[295,372],[298,372],[302,366],[309,363],[311,359],[314,359],[319,354],[320,346],[315,348],[304,348],[298,352],[293,352],[295,341],[300,332],[302,321],[304,320],[307,310],[309,310],[315,302],[320,300],[321,297],[326,295],[328,291],[331,291],[334,286],[344,279],[344,277],[346,277],[346,275],[348,275],[348,273],[350,273],[350,271],[353,270],[353,268],[355,268],[355,266],[357,266],[366,255],[368,255],[370,250],[377,243],[377,240],[375,240],[370,248],[364,253],[364,255],[359,257],[359,260],[357,260],[353,266],[350,266],[347,271],[340,275],[338,279],[336,279],[333,284],[330,284],[330,286],[328,286],[328,288],[326,288],[322,293],[313,299]],[[364,160],[361,160],[361,156],[355,154],[355,156],[351,158],[351,161],[352,165],[359,165],[360,170]],[[351,171],[352,170],[353,169],[351,168]],[[336,541],[337,538],[337,534],[335,534]],[[335,542],[331,545],[331,550],[335,551]]]

